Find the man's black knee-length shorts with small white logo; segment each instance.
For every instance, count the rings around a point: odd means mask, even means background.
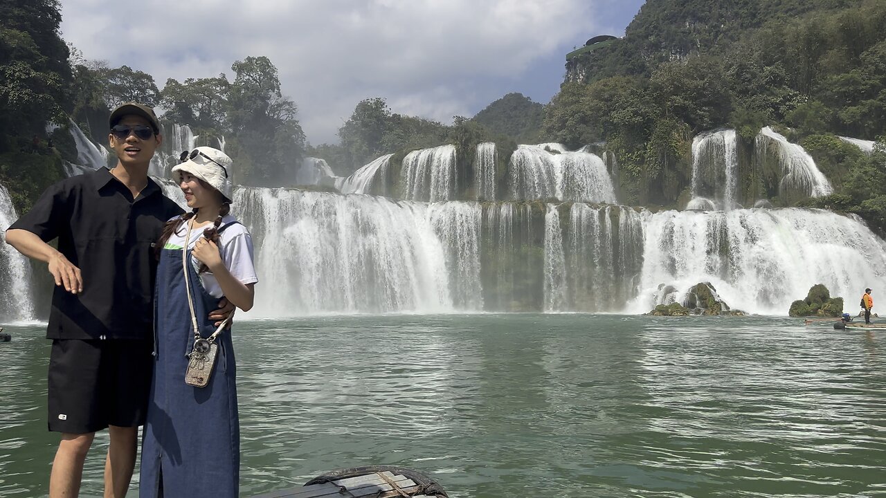
[[[108,425],[144,424],[153,349],[152,340],[54,339],[49,372],[50,431],[87,434]]]

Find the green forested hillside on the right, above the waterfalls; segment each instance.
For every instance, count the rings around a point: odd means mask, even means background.
[[[835,135],[886,130],[884,25],[886,3],[875,0],[650,0],[624,38],[570,60],[543,136],[571,148],[605,141],[623,202],[677,206],[692,136],[730,127],[751,144],[782,123],[835,183],[837,197],[821,201],[882,228],[886,163]]]

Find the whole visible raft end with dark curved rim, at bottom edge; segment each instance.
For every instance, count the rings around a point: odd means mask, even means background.
[[[369,465],[332,471],[305,486],[260,494],[253,498],[448,498],[439,484],[416,471]]]

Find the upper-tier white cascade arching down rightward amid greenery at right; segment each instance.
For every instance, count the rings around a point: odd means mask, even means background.
[[[763,128],[754,139],[756,159],[764,160],[774,147],[781,164],[779,192],[787,196],[823,197],[834,191],[828,178],[822,175],[815,161],[800,145],[791,144],[784,136]]]

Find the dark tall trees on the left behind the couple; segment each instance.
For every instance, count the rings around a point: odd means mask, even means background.
[[[60,22],[58,0],[0,0],[0,183],[14,185],[19,211],[62,177],[64,160],[76,159],[69,123],[104,144],[111,109],[129,100],[159,106],[161,121],[190,125],[200,144],[224,136],[238,181],[291,182],[305,136],[268,58],[235,61],[233,81],[169,79],[159,89],[151,74],[84,58],[61,39]]]

